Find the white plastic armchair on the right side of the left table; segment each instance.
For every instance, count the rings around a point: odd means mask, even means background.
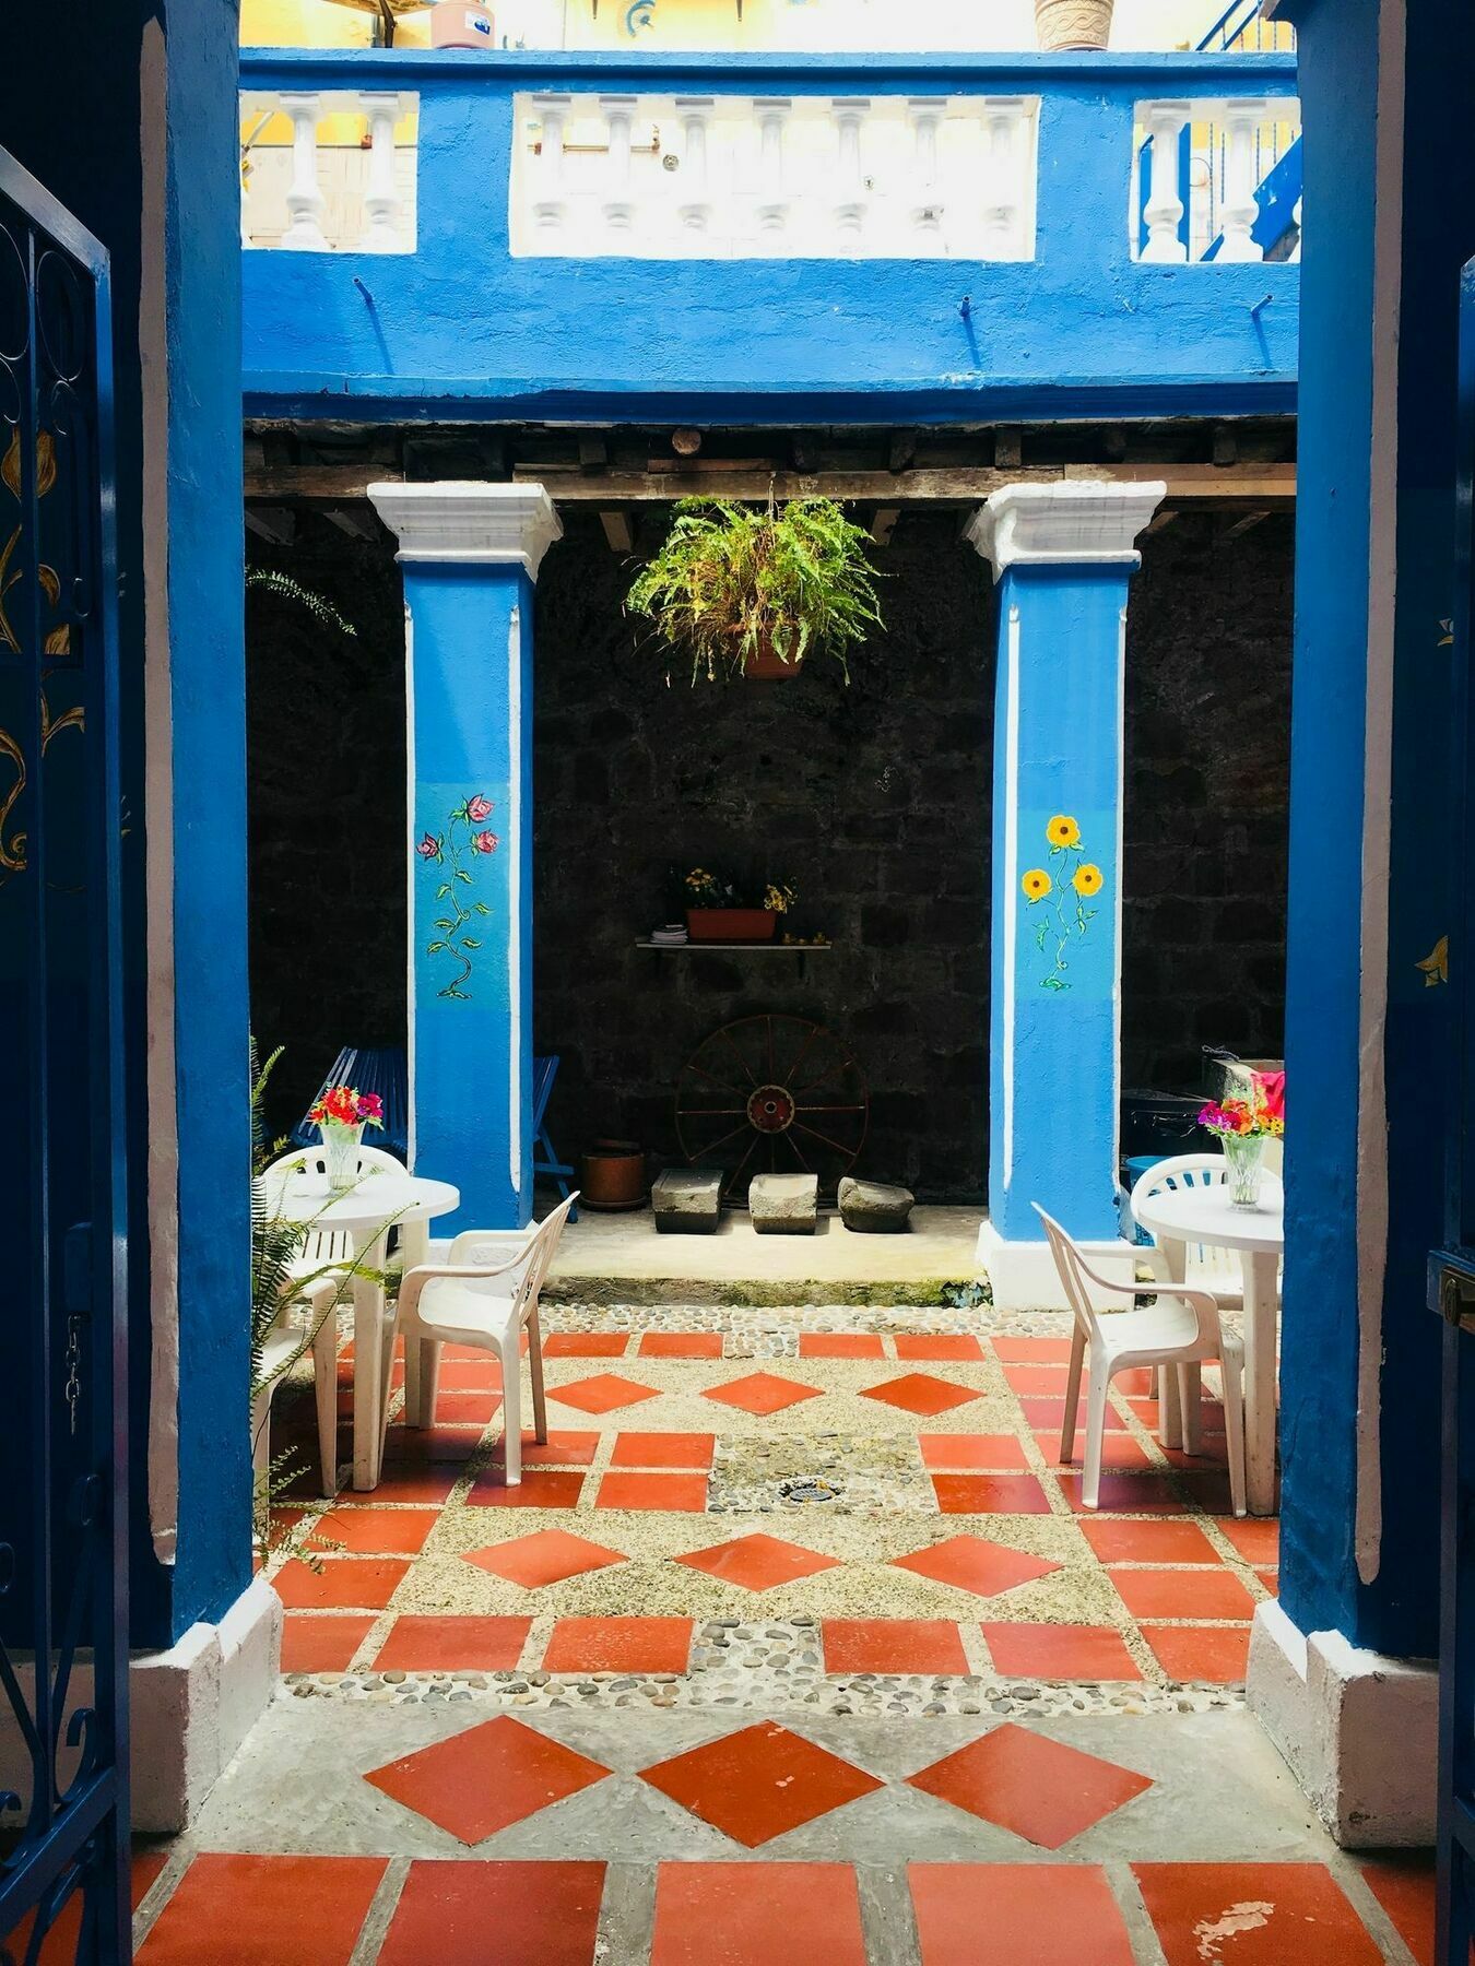
[[[405,1419],[435,1425],[441,1347],[474,1345],[502,1364],[507,1486],[523,1478],[521,1333],[533,1386],[533,1431],[549,1437],[537,1300],[578,1191],[537,1229],[462,1229],[444,1262],[417,1264],[399,1284],[395,1331],[405,1335]],[[387,1402],[385,1402],[387,1406]]]

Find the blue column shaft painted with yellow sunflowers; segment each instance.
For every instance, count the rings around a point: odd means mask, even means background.
[[[1125,564],[1011,566],[999,582],[989,1219],[1007,1243],[1042,1239],[1034,1201],[1058,1215],[1072,1235],[1117,1235],[1121,615],[1127,574]],[[1015,720],[1019,832],[1011,855]]]

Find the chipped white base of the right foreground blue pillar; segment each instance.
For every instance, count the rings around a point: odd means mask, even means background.
[[[1440,1673],[1259,1604],[1249,1705],[1343,1850],[1434,1842]]]

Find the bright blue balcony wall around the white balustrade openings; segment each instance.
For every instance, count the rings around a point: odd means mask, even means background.
[[[1294,407],[1300,269],[1143,265],[1133,116],[1294,96],[1292,55],[254,51],[242,88],[419,94],[419,246],[244,254],[248,415],[972,421]],[[1040,98],[1032,261],[511,258],[515,90]]]

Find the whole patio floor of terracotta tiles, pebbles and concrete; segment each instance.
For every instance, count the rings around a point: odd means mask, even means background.
[[[140,1966],[1432,1966],[1426,1864],[1335,1850],[1245,1712],[1276,1526],[1215,1408],[1166,1455],[1123,1384],[1088,1516],[1042,1313],[562,1305],[547,1355],[519,1490],[470,1353],[376,1494],[303,1482],[340,1547],[275,1567]]]

